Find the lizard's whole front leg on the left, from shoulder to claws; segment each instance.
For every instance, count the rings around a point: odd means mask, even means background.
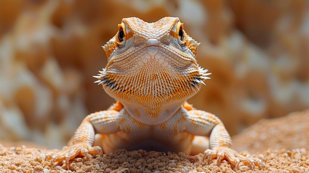
[[[119,122],[123,119],[121,112],[116,110],[106,110],[91,113],[84,118],[81,125],[76,130],[72,145],[65,146],[57,153],[48,153],[45,160],[51,160],[50,166],[55,162],[66,161],[69,169],[69,160],[78,155],[90,158],[90,154],[103,154],[101,147],[92,146],[95,141],[95,134],[112,134],[120,130]]]

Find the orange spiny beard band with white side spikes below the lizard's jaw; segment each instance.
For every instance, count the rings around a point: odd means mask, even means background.
[[[113,93],[127,93],[144,97],[167,97],[175,92],[187,93],[191,95],[199,91],[203,80],[211,73],[206,73],[208,69],[198,67],[195,71],[176,76],[168,73],[145,74],[139,72],[131,76],[121,76],[107,72],[105,68],[99,71],[98,76],[93,76],[98,80],[94,83],[102,84],[105,90]]]

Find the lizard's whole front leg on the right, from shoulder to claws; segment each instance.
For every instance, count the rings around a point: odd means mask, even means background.
[[[236,172],[239,169],[240,163],[251,165],[253,171],[255,165],[264,169],[261,159],[245,157],[231,149],[231,137],[218,117],[201,110],[193,109],[188,111],[183,108],[182,111],[184,111],[184,115],[186,115],[184,131],[189,134],[200,136],[207,136],[210,134],[210,149],[204,152],[204,159],[207,159],[208,164],[210,164],[211,159],[217,159],[217,165],[220,164],[222,159],[227,159],[236,167]]]

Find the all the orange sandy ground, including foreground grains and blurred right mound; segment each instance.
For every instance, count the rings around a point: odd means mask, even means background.
[[[309,111],[292,113],[283,118],[258,122],[233,137],[233,144],[235,149],[248,150],[255,153],[251,154],[253,157],[264,161],[265,170],[260,171],[256,167],[255,172],[309,173],[308,128]],[[49,162],[44,162],[44,153],[48,151],[51,150],[0,145],[0,172],[235,172],[235,167],[225,160],[219,166],[215,160],[207,165],[202,154],[189,156],[144,150],[117,150],[103,157],[95,155],[90,161],[76,158],[70,162],[70,170],[66,170],[64,163],[58,163],[50,171]],[[247,155],[248,151],[241,153]],[[239,172],[251,173],[252,170],[241,166]]]

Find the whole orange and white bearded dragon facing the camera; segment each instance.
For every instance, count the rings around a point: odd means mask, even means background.
[[[88,115],[72,144],[46,159],[53,166],[62,160],[68,165],[78,155],[89,158],[121,148],[187,154],[202,149],[208,163],[227,159],[235,170],[241,164],[262,169],[260,159],[231,149],[231,137],[218,117],[186,102],[209,79],[210,73],[197,64],[198,45],[178,18],[155,23],[122,19],[117,34],[103,46],[108,64],[94,76],[95,83],[118,101],[108,110]],[[210,136],[209,149],[204,136]]]

